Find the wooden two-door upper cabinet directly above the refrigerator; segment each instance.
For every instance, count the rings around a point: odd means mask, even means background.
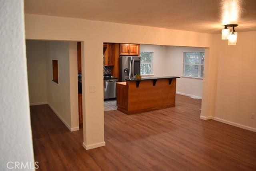
[[[139,44],[120,44],[119,45],[120,56],[140,56]]]

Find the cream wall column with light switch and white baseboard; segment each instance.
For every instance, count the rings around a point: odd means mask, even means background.
[[[105,145],[102,61],[103,42],[96,40],[82,42],[83,147],[85,149]]]

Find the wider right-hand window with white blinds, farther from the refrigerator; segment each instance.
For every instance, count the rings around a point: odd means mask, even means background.
[[[204,78],[204,52],[184,52],[183,76]]]

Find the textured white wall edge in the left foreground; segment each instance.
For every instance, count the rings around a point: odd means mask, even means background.
[[[0,170],[6,171],[9,161],[33,166],[34,155],[23,1],[2,0],[0,4]],[[14,168],[14,163],[8,166]]]

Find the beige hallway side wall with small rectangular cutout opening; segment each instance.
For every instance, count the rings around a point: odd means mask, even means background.
[[[52,81],[52,60],[58,60],[58,84]],[[79,129],[76,63],[76,42],[46,41],[48,104],[70,131]]]

